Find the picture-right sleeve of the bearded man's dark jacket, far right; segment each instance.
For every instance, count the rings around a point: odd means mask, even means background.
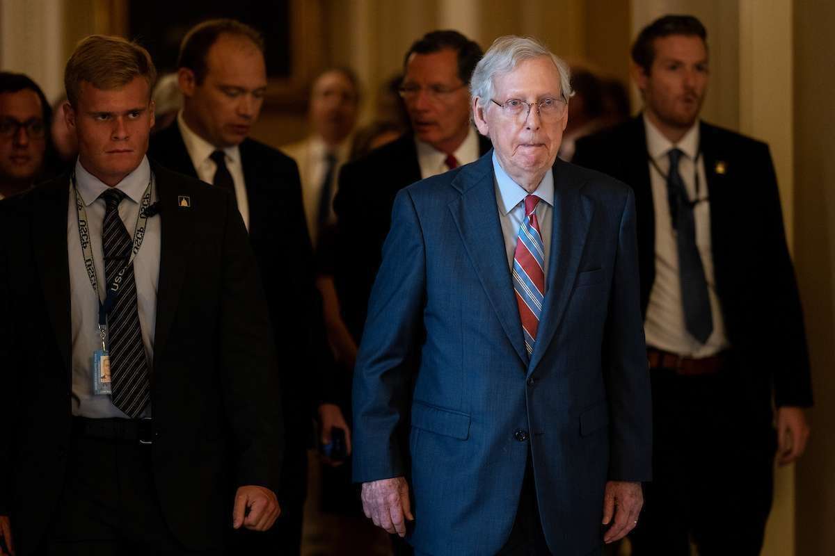
[[[774,402],[782,406],[812,406],[812,379],[806,332],[800,293],[797,290],[794,265],[788,252],[783,226],[780,192],[774,172],[771,154],[765,144],[758,144],[761,153],[754,157],[762,175],[753,183],[763,188],[756,193],[762,203],[762,220],[758,260],[763,261],[767,272],[763,280],[762,322],[769,323],[762,329],[763,338],[776,341],[763,350],[769,353],[774,379]],[[767,301],[766,301],[767,300]]]

